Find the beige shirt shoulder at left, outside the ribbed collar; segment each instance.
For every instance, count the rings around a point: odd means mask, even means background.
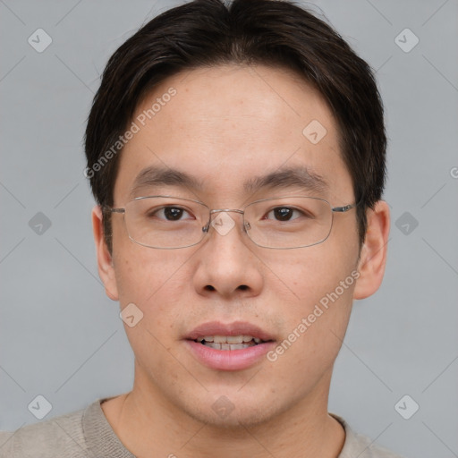
[[[26,425],[13,432],[0,432],[0,458],[86,457],[84,411]]]

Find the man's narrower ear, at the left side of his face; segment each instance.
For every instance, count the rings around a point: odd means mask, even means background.
[[[92,231],[96,242],[98,276],[105,285],[106,295],[113,301],[119,301],[116,277],[114,276],[113,258],[108,251],[104,237],[102,209],[100,206],[92,208]]]

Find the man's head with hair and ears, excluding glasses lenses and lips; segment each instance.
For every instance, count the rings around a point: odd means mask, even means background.
[[[94,98],[86,174],[106,293],[143,314],[126,326],[138,389],[226,426],[326,398],[352,300],[374,293],[384,273],[385,153],[368,64],[294,4],[198,0],[129,38]],[[140,182],[148,167],[166,171],[160,184]],[[319,185],[302,188],[292,178],[299,170]],[[183,174],[192,180],[181,183]],[[273,174],[275,186],[247,185]],[[244,208],[304,193],[356,207],[334,215],[324,242],[292,250],[252,243],[237,213],[226,214],[235,225],[225,235],[210,227],[197,245],[147,248],[131,241],[123,214],[101,209],[158,194]],[[270,357],[209,368],[189,348],[193,330],[208,322],[259,327],[272,341]],[[226,417],[212,409],[221,396],[234,406]]]

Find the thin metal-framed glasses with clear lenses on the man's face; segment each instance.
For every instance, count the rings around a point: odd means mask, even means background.
[[[351,204],[333,208],[325,199],[283,196],[256,200],[242,210],[211,210],[199,200],[147,196],[132,199],[125,208],[104,207],[104,210],[123,213],[131,241],[148,248],[172,250],[197,245],[210,225],[218,233],[228,233],[235,224],[227,212],[234,212],[242,215],[243,230],[256,245],[287,250],[325,242],[331,233],[334,214],[355,207],[356,204]],[[214,218],[216,214],[219,215]]]

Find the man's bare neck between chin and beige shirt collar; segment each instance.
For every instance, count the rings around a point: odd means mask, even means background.
[[[191,418],[154,389],[132,391],[102,404],[114,433],[142,458],[336,458],[344,428],[327,413],[330,373],[305,399],[259,424],[225,428]],[[137,377],[135,378],[137,382]]]

